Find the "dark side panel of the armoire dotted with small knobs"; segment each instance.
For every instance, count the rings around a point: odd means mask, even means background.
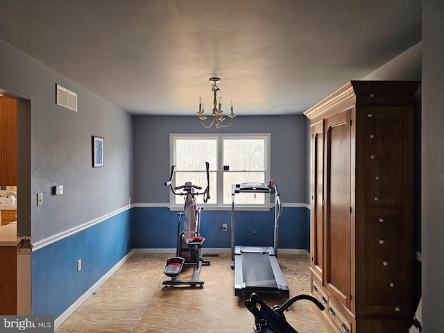
[[[360,108],[357,121],[357,316],[411,316],[413,108]]]

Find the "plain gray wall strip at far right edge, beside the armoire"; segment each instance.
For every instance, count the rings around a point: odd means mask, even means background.
[[[444,1],[422,1],[422,332],[444,327]]]

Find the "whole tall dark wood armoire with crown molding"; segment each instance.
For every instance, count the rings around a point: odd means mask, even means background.
[[[413,111],[418,82],[351,81],[311,121],[311,288],[343,333],[413,318]]]

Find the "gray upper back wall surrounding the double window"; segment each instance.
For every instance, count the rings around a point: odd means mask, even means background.
[[[239,110],[237,113],[241,113]],[[198,117],[133,117],[135,203],[168,203],[170,133],[271,133],[271,178],[283,203],[309,203],[307,140],[309,121],[303,115],[234,119],[232,126],[205,129]]]

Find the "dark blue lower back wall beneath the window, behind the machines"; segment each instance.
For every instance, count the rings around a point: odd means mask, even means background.
[[[278,248],[309,251],[309,209],[283,207],[280,219]],[[230,248],[231,211],[203,210],[200,234],[205,248]],[[221,230],[222,224],[228,231]],[[183,228],[183,219],[180,230]],[[134,207],[133,232],[135,248],[176,248],[177,212],[168,207]],[[236,245],[273,246],[274,208],[269,211],[239,211],[235,214]]]

